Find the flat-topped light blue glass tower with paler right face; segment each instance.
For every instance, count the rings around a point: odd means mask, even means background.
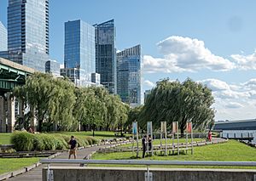
[[[78,69],[80,82],[91,82],[96,72],[95,28],[82,20],[66,22],[64,51],[65,69]]]

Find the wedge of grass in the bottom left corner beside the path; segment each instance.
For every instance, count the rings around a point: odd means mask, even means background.
[[[31,166],[42,158],[0,158],[0,174]]]

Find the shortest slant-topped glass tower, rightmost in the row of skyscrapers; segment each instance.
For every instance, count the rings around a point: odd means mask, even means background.
[[[131,106],[141,105],[141,45],[117,54],[117,93]]]

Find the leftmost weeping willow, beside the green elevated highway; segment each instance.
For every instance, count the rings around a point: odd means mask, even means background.
[[[14,95],[33,108],[39,132],[43,129],[43,122],[56,123],[61,130],[75,130],[78,126],[73,119],[76,99],[72,82],[35,73],[26,78],[24,86],[14,89]]]

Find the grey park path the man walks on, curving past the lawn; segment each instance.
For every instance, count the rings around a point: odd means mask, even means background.
[[[215,143],[221,143],[223,141],[224,141],[224,139],[220,139],[220,138],[212,139],[212,142],[215,142]],[[207,143],[211,144],[210,142],[207,142]],[[201,143],[201,144],[203,144],[203,143]],[[77,150],[77,155],[78,155],[77,159],[84,159],[84,157],[89,156],[92,152],[94,152],[96,150],[99,150],[99,149],[102,149],[102,148],[105,148],[106,146],[110,146],[110,145],[113,145],[113,144],[92,146],[92,147],[89,147],[89,148]],[[194,145],[196,145],[196,144],[194,143]],[[67,159],[67,158],[68,158],[68,152],[63,152],[61,154],[61,156],[56,156],[54,159]],[[58,166],[58,164],[51,164],[51,166]],[[79,165],[75,165],[75,164],[71,164],[71,165],[65,164],[64,165],[64,164],[61,164],[61,166],[62,167],[65,167],[65,166],[67,166],[67,167],[78,167]],[[36,167],[36,168],[32,169],[29,172],[17,175],[14,178],[9,178],[8,180],[9,181],[15,181],[15,180],[19,180],[19,181],[40,181],[40,180],[42,180],[43,167],[47,167],[47,165],[44,165],[44,164],[40,165],[39,167]]]

